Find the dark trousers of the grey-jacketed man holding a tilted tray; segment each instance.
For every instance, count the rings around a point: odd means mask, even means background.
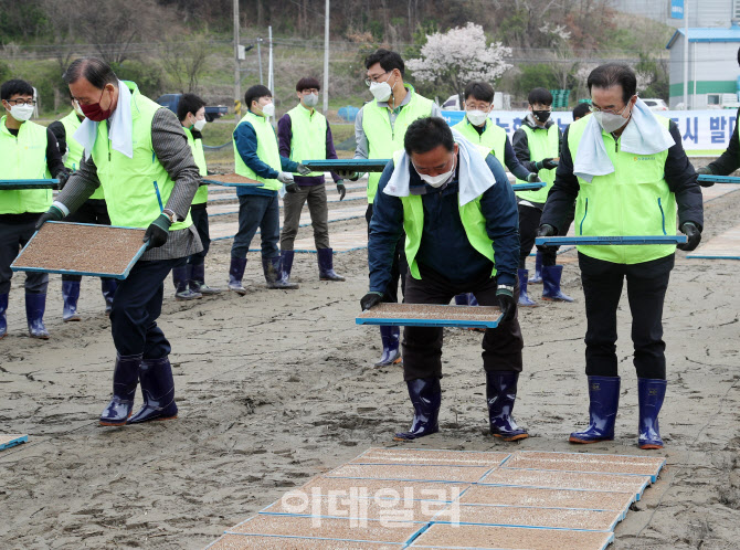
[[[170,342],[157,318],[162,313],[163,281],[184,258],[139,261],[118,288],[110,311],[110,331],[121,356],[144,353],[145,359],[161,359],[170,353]]]

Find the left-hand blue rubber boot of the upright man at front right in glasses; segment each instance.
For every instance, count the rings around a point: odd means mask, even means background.
[[[614,440],[614,421],[620,408],[620,377],[589,377],[589,427],[570,434],[571,443]]]

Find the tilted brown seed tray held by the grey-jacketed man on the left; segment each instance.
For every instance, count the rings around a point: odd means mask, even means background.
[[[124,279],[146,252],[144,234],[136,228],[46,222],[10,267]]]

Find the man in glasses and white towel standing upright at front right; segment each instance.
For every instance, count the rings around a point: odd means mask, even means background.
[[[675,123],[637,98],[635,73],[622,63],[594,68],[588,78],[591,116],[565,130],[560,163],[538,235],[563,234],[575,201],[577,235],[688,236],[701,240],[704,207],[697,177]],[[620,402],[616,310],[624,279],[632,311],[639,403],[638,445],[660,448],[658,413],[666,392],[663,304],[675,245],[579,246],[585,298],[585,373],[590,425],[573,443],[614,438]]]

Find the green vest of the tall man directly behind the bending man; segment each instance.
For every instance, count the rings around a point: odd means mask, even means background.
[[[403,149],[403,138],[406,135],[406,128],[417,118],[424,118],[432,115],[434,103],[426,97],[422,97],[411,84],[404,84],[411,94],[411,99],[401,108],[395,124],[391,128],[391,121],[388,118],[388,107],[381,107],[374,99],[366,103],[362,107],[362,130],[368,138],[368,158],[388,159],[393,152]],[[380,172],[370,172],[368,174],[368,203],[372,204],[378,192],[378,182]]]

